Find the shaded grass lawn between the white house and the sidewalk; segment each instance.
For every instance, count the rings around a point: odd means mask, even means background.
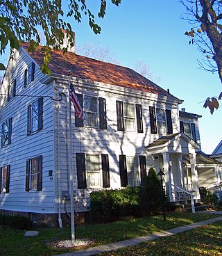
[[[187,225],[189,223],[203,221],[207,218],[214,217],[216,217],[216,215],[214,214],[167,213],[166,222],[163,221],[162,215],[152,217],[148,216],[145,218],[130,217],[126,218],[124,221],[118,221],[115,223],[98,225],[79,225],[75,227],[75,232],[76,239],[92,239],[92,246],[98,246],[101,244],[112,243],[114,241],[121,241],[124,239],[130,239],[133,237],[151,234],[153,232],[158,232],[160,230],[168,230],[173,227]],[[65,227],[62,229],[35,228],[34,230],[40,231],[40,235],[38,237],[24,237],[25,230],[13,230],[7,226],[0,226],[0,255],[56,255],[60,253],[67,253],[69,251],[77,250],[76,248],[67,249],[52,246],[53,242],[55,241],[62,241],[71,238],[70,227]],[[191,238],[191,241],[192,240],[193,239]],[[125,255],[130,254],[132,253],[126,253]]]

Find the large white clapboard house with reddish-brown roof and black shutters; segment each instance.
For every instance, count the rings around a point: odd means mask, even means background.
[[[180,189],[185,188],[200,200],[200,143],[197,131],[196,141],[185,134],[187,128],[180,131],[182,100],[127,67],[73,52],[52,51],[51,56],[52,75],[44,76],[41,47],[32,53],[23,44],[1,83],[1,213],[26,214],[47,225],[65,221],[70,211],[69,157],[79,216],[89,209],[91,191],[137,186],[151,166],[164,170],[171,203],[180,202]],[[84,111],[82,120],[72,107],[71,127],[69,76]]]

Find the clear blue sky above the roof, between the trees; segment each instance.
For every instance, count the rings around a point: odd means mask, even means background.
[[[137,61],[147,63],[153,77],[161,77],[158,85],[184,100],[180,109],[202,115],[202,150],[211,154],[222,139],[222,109],[211,115],[203,104],[207,97],[219,95],[221,82],[218,74],[198,67],[197,59],[203,56],[196,46],[189,45],[185,31],[191,25],[181,19],[182,13],[185,8],[174,0],[122,0],[119,7],[108,4],[105,19],[98,20],[100,35],[89,29],[86,18],[80,24],[69,22],[76,33],[76,45],[108,47],[120,65],[126,67],[133,68]]]

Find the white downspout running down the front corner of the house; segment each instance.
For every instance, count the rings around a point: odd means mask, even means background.
[[[60,92],[57,90],[57,99],[60,98]],[[62,218],[61,218],[61,191],[60,191],[60,102],[57,105],[57,140],[58,140],[58,225],[62,228]]]

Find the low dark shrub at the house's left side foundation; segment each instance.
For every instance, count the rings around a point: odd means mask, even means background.
[[[1,215],[0,225],[8,225],[18,230],[27,230],[32,227],[32,222],[30,218],[24,216]]]

